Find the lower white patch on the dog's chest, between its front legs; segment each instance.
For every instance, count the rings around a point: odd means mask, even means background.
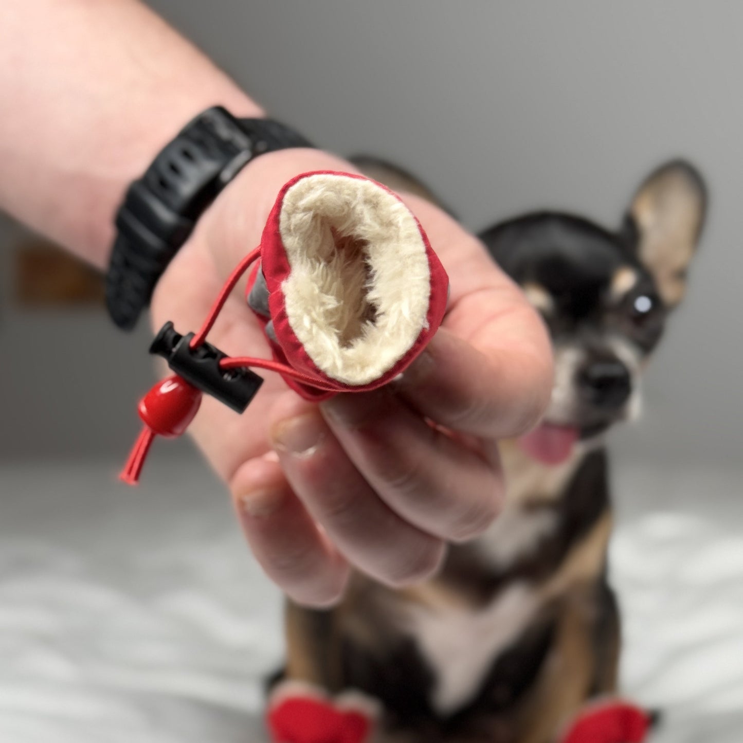
[[[493,660],[538,608],[536,591],[527,583],[514,583],[484,609],[413,609],[410,629],[435,672],[431,703],[438,713],[454,712],[470,700]]]

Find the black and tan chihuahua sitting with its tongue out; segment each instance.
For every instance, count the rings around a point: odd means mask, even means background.
[[[436,201],[398,169],[357,163]],[[556,369],[542,424],[502,442],[504,510],[484,535],[450,545],[421,585],[357,575],[333,609],[288,603],[277,690],[362,692],[380,710],[380,743],[554,743],[586,704],[617,692],[604,438],[637,414],[638,380],[684,296],[706,204],[698,172],[673,161],[643,181],[619,230],[533,212],[481,233],[541,314]]]

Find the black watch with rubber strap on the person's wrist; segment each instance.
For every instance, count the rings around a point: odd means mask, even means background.
[[[178,248],[215,196],[253,158],[311,147],[270,119],[237,119],[221,106],[199,114],[129,186],[116,215],[117,238],[106,274],[106,305],[131,330]]]

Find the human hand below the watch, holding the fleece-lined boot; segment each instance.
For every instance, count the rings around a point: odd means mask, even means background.
[[[168,319],[200,327],[226,276],[259,244],[281,186],[321,169],[354,172],[314,150],[250,163],[160,279],[155,328]],[[299,603],[333,603],[351,567],[388,585],[432,574],[447,542],[478,535],[497,516],[496,442],[526,432],[548,402],[548,338],[518,288],[452,218],[402,198],[451,285],[441,329],[403,378],[318,406],[267,373],[244,415],[205,398],[190,427],[230,487],[256,558]],[[241,289],[209,340],[231,355],[270,357]]]

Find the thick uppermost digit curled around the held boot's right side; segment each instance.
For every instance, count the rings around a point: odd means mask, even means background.
[[[450,279],[450,307],[400,392],[450,429],[508,438],[541,418],[552,389],[551,343],[542,320],[484,245],[450,215],[413,195]]]

